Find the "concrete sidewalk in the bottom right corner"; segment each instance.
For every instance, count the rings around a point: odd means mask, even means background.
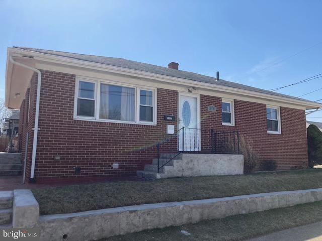
[[[305,226],[293,227],[265,236],[249,239],[248,241],[320,241],[322,240],[322,222]]]

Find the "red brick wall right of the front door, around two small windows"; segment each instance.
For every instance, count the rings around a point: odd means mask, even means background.
[[[234,100],[235,126],[221,125],[221,98],[201,95],[201,129],[238,130],[253,144],[260,160],[275,160],[277,168],[307,167],[305,111],[280,107],[282,134],[267,134],[266,104]],[[207,106],[215,105],[216,112]],[[203,139],[208,144],[208,139]],[[208,144],[209,145],[209,144]]]

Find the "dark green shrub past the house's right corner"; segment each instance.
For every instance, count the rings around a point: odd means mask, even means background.
[[[313,124],[307,128],[308,166],[322,163],[322,132]]]

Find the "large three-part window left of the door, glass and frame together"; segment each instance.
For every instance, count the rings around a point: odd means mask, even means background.
[[[156,90],[104,80],[77,80],[76,119],[100,122],[156,124]],[[97,88],[97,90],[96,90]],[[97,111],[95,111],[97,110]]]

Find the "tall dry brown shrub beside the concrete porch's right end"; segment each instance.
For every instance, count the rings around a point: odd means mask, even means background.
[[[239,136],[239,150],[244,155],[244,173],[252,173],[259,163],[259,154],[252,147],[252,140],[243,135]]]

